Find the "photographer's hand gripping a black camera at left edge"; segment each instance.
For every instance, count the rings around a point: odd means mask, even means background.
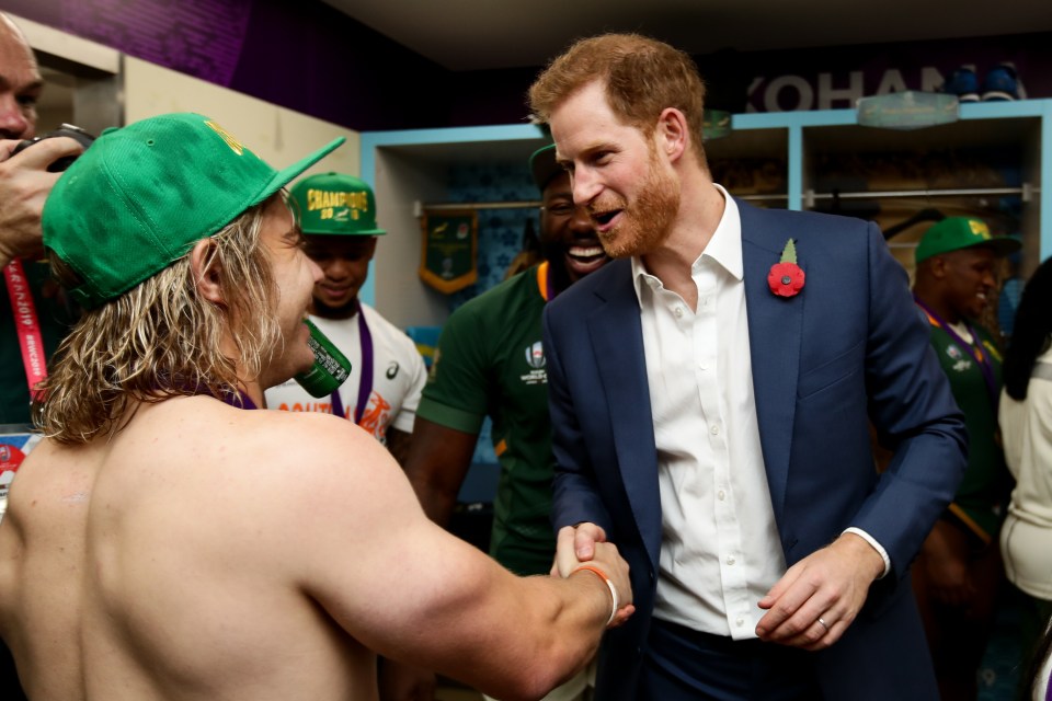
[[[43,245],[41,212],[61,173],[47,166],[83,148],[73,139],[43,139],[18,156],[16,140],[0,140],[0,267],[15,257],[39,255]]]

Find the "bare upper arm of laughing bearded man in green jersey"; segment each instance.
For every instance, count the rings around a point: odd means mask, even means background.
[[[478,434],[416,417],[413,443],[402,466],[427,518],[442,527],[449,525],[478,438]]]

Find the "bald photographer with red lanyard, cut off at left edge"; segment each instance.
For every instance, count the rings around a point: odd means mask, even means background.
[[[75,317],[56,287],[48,285],[49,271],[38,258],[41,210],[59,176],[47,166],[79,153],[81,147],[73,139],[55,138],[11,156],[22,139],[36,135],[36,102],[43,90],[33,50],[14,22],[0,12],[0,271],[5,278],[0,284],[0,426],[30,423],[30,386],[43,376],[41,368]],[[12,307],[9,285],[27,291],[18,309]],[[15,314],[24,318],[30,310],[43,344],[35,358],[23,353],[15,326]],[[2,643],[0,698],[25,699],[11,653]]]

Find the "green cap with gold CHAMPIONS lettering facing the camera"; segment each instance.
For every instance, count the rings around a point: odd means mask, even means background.
[[[342,173],[310,175],[288,191],[304,233],[378,237],[376,198],[361,177]]]

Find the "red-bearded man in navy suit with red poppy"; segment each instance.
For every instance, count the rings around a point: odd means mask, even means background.
[[[545,311],[554,525],[581,558],[616,542],[636,593],[596,698],[937,698],[905,575],[961,479],[960,412],[876,226],[730,197],[704,93],[637,35],[530,89],[618,258]]]

